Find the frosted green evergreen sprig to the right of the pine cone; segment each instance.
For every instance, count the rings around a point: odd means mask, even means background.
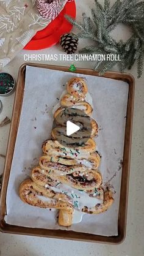
[[[82,22],[66,16],[71,24],[79,29],[79,38],[91,39],[95,45],[82,48],[82,54],[103,54],[119,55],[121,61],[96,61],[94,69],[99,70],[103,75],[115,64],[118,64],[120,71],[131,69],[134,62],[137,62],[137,76],[140,78],[143,73],[144,59],[144,1],[139,0],[116,0],[111,6],[110,0],[104,0],[102,6],[95,0],[95,9],[91,10],[92,17],[82,15]],[[132,36],[127,42],[113,39],[110,32],[117,24],[128,25],[132,30]]]

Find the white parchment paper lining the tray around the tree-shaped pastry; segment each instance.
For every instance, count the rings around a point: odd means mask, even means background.
[[[49,211],[24,204],[18,196],[18,188],[30,175],[32,167],[38,164],[42,154],[41,144],[50,138],[52,107],[59,101],[67,81],[76,76],[87,79],[88,92],[93,97],[93,118],[99,124],[96,143],[103,156],[99,170],[103,175],[103,183],[107,183],[115,192],[115,202],[106,213],[97,216],[85,214],[81,223],[73,224],[67,230],[105,236],[118,235],[128,83],[30,66],[26,70],[23,107],[7,189],[5,221],[7,224],[24,227],[66,229],[57,225],[56,210]]]

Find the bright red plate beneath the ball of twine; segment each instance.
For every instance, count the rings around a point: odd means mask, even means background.
[[[54,19],[48,26],[41,31],[38,31],[31,41],[24,47],[25,50],[40,50],[56,45],[60,40],[60,36],[70,32],[73,25],[70,24],[64,15],[70,15],[76,18],[76,4],[75,1],[67,2],[62,12],[59,13],[56,19]]]

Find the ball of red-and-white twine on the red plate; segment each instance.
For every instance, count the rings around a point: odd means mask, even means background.
[[[37,8],[43,18],[54,20],[60,12],[60,0],[37,0]]]

